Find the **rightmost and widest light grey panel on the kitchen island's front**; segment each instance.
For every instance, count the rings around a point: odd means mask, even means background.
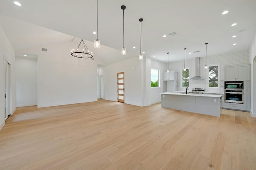
[[[196,97],[196,113],[204,115],[220,116],[220,98]]]

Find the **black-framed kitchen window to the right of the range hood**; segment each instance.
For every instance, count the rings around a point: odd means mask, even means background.
[[[218,81],[218,65],[209,65],[208,66],[208,87],[219,87]]]

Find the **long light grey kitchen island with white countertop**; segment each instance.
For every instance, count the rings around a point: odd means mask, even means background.
[[[160,94],[161,106],[164,108],[220,117],[222,95],[169,92]]]

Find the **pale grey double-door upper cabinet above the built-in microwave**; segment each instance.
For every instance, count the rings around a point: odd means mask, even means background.
[[[225,81],[250,80],[250,64],[224,66]]]

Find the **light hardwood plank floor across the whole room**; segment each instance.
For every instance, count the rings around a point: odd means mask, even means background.
[[[256,118],[105,101],[16,109],[1,170],[256,170]]]

